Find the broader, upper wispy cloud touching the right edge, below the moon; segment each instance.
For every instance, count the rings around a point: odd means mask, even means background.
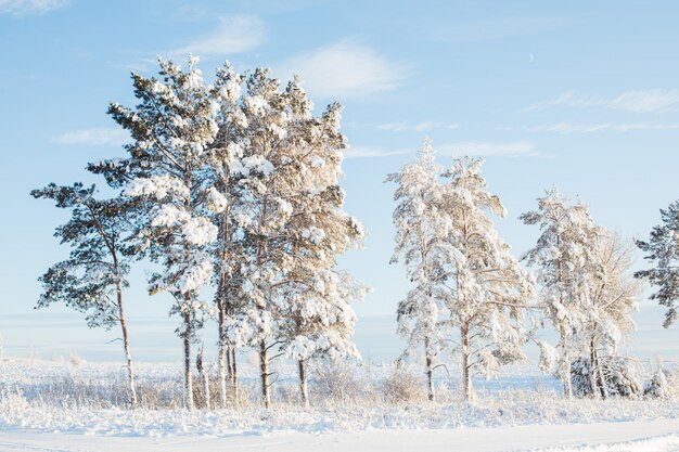
[[[619,109],[631,113],[664,112],[679,108],[679,90],[641,90],[626,91],[615,98],[594,98],[565,92],[555,99],[523,108],[523,112],[540,111],[553,106],[582,106]]]

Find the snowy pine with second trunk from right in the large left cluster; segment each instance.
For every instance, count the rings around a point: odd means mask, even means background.
[[[235,109],[240,137],[230,144],[239,156],[230,168],[239,191],[230,216],[243,250],[239,266],[243,309],[227,326],[227,337],[238,347],[258,350],[266,406],[270,404],[270,351],[281,345],[276,339],[277,321],[284,311],[280,295],[293,261],[285,224],[302,178],[294,154],[289,155],[295,145],[295,134],[289,132],[298,120],[290,99],[268,69],[256,69],[246,80],[241,108]]]

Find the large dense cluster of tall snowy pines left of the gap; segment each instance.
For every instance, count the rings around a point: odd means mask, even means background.
[[[71,256],[40,277],[38,306],[61,301],[87,312],[90,326],[119,324],[134,404],[123,293],[133,261],[154,262],[161,271],[149,292],[171,295],[170,314],[180,319],[187,408],[194,404],[191,345],[209,319],[219,328],[222,405],[228,387],[238,387],[243,348],[258,352],[265,405],[269,363],[279,356],[297,361],[307,403],[308,360],[358,354],[349,302],[366,293],[336,269],[337,256],[364,236],[343,209],[337,181],[342,106],[313,116],[298,79],[281,89],[267,69],[245,76],[228,63],[207,85],[196,63],[190,56],[183,70],[159,60],[159,78],[132,74],[136,107],[111,104],[131,135],[128,155],[88,169],[115,196],[98,199],[81,183],[31,192],[72,212],[55,233]]]

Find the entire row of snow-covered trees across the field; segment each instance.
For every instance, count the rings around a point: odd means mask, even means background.
[[[113,196],[99,198],[80,182],[31,192],[71,212],[55,232],[71,255],[40,277],[38,307],[63,302],[86,312],[90,326],[120,327],[134,405],[124,290],[134,262],[153,262],[149,292],[169,294],[180,320],[187,408],[194,404],[191,347],[206,321],[218,328],[222,406],[238,388],[236,351],[246,348],[259,357],[266,406],[269,364],[280,356],[296,361],[307,404],[310,359],[358,356],[350,302],[366,294],[336,269],[337,257],[364,237],[343,209],[337,181],[342,106],[313,116],[297,78],[281,88],[267,69],[247,76],[227,63],[208,85],[196,63],[190,56],[183,70],[159,60],[159,78],[132,74],[137,106],[111,104],[131,137],[127,156],[88,170],[103,176]],[[590,393],[607,397],[611,363],[635,327],[640,284],[630,274],[631,247],[595,224],[586,205],[551,190],[521,216],[540,235],[515,258],[495,230],[491,216],[505,209],[487,191],[482,165],[462,157],[445,169],[425,141],[414,162],[387,178],[397,185],[392,261],[401,260],[413,283],[398,304],[398,330],[408,353],[424,350],[428,399],[447,353],[459,356],[470,400],[472,377],[524,359],[529,340],[567,397],[576,362],[587,363]],[[651,240],[637,242],[657,266],[636,276],[659,286],[652,298],[669,308],[669,326],[679,298],[679,202],[662,214]],[[556,347],[536,337],[546,321],[559,334]],[[202,350],[198,357],[203,373]]]

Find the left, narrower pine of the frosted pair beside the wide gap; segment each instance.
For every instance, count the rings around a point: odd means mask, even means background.
[[[390,263],[402,258],[408,279],[415,284],[398,304],[398,332],[408,339],[407,353],[424,347],[424,373],[427,396],[434,400],[434,360],[444,336],[439,310],[444,283],[452,264],[452,248],[447,236],[450,219],[439,209],[443,167],[436,164],[434,150],[424,141],[418,158],[387,177],[397,184],[394,199],[396,248]]]

